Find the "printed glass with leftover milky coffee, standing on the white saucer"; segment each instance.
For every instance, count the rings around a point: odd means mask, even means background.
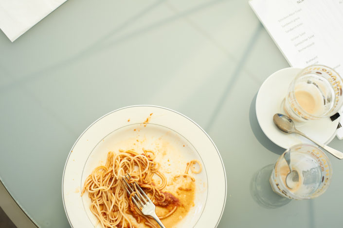
[[[335,70],[325,65],[307,66],[290,83],[283,109],[298,122],[334,115],[343,104],[342,85]]]

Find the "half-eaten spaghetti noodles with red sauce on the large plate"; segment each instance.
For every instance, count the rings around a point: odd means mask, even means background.
[[[127,214],[131,214],[138,223],[143,222],[149,227],[157,228],[153,219],[143,215],[132,203],[130,195],[126,194],[121,184],[125,173],[131,176],[130,182],[136,181],[144,189],[156,206],[169,209],[165,215],[159,216],[160,219],[177,210],[179,199],[170,193],[162,192],[167,180],[159,172],[160,164],[154,161],[155,158],[154,151],[145,149],[142,154],[134,150],[119,150],[117,154],[108,152],[106,164],[96,167],[85,180],[81,196],[88,191],[90,211],[103,228],[134,228]],[[195,170],[195,163],[199,164],[199,170]],[[189,169],[193,173],[199,173],[201,164],[197,160],[187,163],[183,176],[190,176]],[[156,181],[156,178],[160,181]]]

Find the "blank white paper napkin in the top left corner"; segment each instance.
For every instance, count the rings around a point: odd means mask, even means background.
[[[66,0],[0,0],[0,29],[13,42]]]

